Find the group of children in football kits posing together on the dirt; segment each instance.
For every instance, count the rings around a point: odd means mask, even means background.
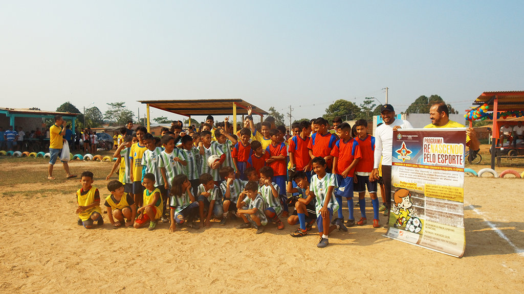
[[[287,218],[290,225],[299,223],[293,237],[308,234],[316,222],[317,246],[325,247],[333,230],[367,223],[367,187],[373,227],[379,227],[377,182],[369,177],[375,140],[365,120],[358,120],[353,131],[336,120],[336,133],[323,118],[304,120],[293,123],[293,137],[285,140],[285,128],[264,121],[257,129],[248,112],[237,134],[230,133],[228,118],[215,128],[209,116],[200,133],[164,130],[156,139],[138,127],[136,137],[123,135],[114,154],[118,160],[106,177],[119,169],[119,179],[107,184],[111,195],[104,203],[111,224],[154,230],[159,221],[170,222],[173,232],[177,225],[199,229],[210,227],[212,219],[225,225],[239,218],[237,229],[254,228],[259,234],[268,223],[283,229],[280,218]],[[100,193],[91,186],[91,172],[82,173],[80,181],[78,223],[89,229],[94,222],[104,223]],[[354,191],[362,213],[358,222]],[[345,223],[343,197],[349,208]],[[291,215],[288,205],[295,207]]]

